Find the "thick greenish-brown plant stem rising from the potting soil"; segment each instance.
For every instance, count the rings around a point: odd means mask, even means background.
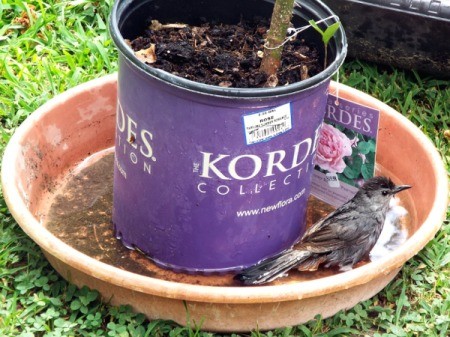
[[[267,34],[266,46],[273,48],[283,43],[286,32],[292,18],[294,0],[276,0],[272,12],[270,29]],[[276,76],[281,65],[281,53],[283,47],[276,49],[264,49],[264,57],[261,61],[260,70],[267,76]]]

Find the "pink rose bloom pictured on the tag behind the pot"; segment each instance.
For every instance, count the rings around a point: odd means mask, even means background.
[[[344,157],[351,154],[351,140],[332,125],[324,123],[320,130],[316,165],[331,173],[342,173],[346,166]]]

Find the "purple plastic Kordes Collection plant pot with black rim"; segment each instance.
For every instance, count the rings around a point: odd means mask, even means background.
[[[236,89],[149,67],[124,39],[136,36],[149,17],[238,22],[269,17],[272,7],[263,0],[119,0],[114,6],[119,104],[113,223],[127,247],[162,266],[237,270],[301,237],[329,80],[347,43],[340,29],[329,45],[329,67],[306,81]],[[294,24],[330,15],[319,1],[302,0]],[[306,38],[321,45],[312,29]]]

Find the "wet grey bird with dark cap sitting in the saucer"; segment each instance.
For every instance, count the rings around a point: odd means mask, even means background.
[[[295,249],[242,270],[234,279],[245,285],[271,282],[288,270],[317,270],[338,266],[348,270],[372,250],[383,229],[391,198],[410,188],[389,178],[368,179],[355,196],[308,228]]]

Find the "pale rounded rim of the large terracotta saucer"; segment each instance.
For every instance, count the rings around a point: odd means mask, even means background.
[[[24,136],[33,128],[33,123],[67,98],[81,92],[92,90],[103,85],[114,85],[116,74],[108,75],[72,88],[48,101],[37,109],[16,130],[5,149],[2,163],[3,193],[11,214],[22,229],[49,254],[62,262],[92,277],[112,283],[130,290],[143,292],[165,298],[189,300],[209,303],[267,303],[292,301],[301,298],[325,295],[367,283],[382,275],[387,275],[401,267],[432,239],[445,219],[447,207],[448,184],[447,175],[441,158],[432,142],[412,122],[375,98],[342,84],[332,83],[331,90],[339,87],[341,93],[357,94],[369,105],[382,109],[396,123],[412,128],[414,136],[427,149],[431,164],[436,174],[435,203],[422,226],[397,250],[388,257],[364,266],[321,279],[293,282],[281,285],[265,285],[252,287],[217,287],[177,283],[152,277],[138,275],[97,261],[67,245],[53,236],[31,214],[14,181],[14,164],[18,160]]]

